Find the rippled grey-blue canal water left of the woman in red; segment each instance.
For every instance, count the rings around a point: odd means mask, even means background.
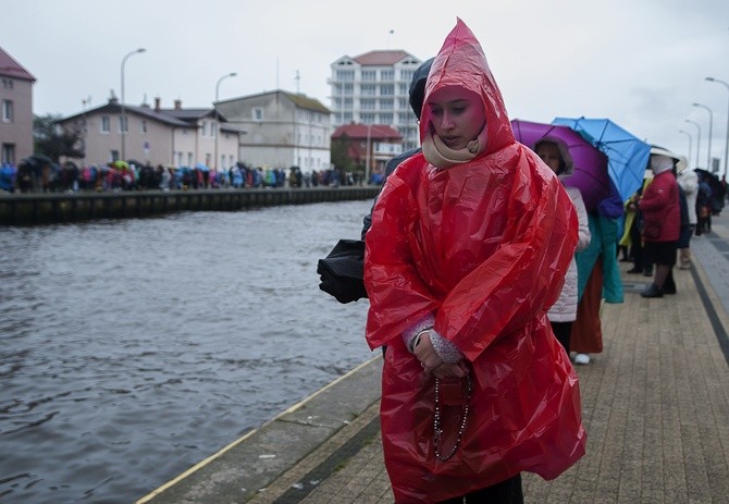
[[[373,354],[370,201],[0,229],[0,501],[129,503]]]

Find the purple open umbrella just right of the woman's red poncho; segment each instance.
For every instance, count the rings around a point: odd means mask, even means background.
[[[530,149],[533,149],[541,139],[557,142],[567,147],[572,157],[574,171],[565,179],[565,185],[580,189],[589,211],[597,208],[597,205],[610,195],[607,156],[582,138],[579,133],[568,126],[519,119],[511,121],[511,130],[516,139]]]

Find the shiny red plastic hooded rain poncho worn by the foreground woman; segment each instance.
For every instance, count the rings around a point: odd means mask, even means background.
[[[447,169],[423,155],[400,164],[366,237],[367,340],[387,345],[381,423],[398,503],[446,500],[523,470],[555,478],[584,454],[586,439],[578,379],[546,317],[577,243],[573,207],[552,171],[515,142],[485,56],[460,20],[428,79],[421,139],[428,97],[452,85],[482,97],[485,150]],[[447,462],[434,456],[434,379],[403,341],[429,316],[473,380],[462,443]],[[441,401],[453,405],[443,413],[447,453],[462,398]]]

